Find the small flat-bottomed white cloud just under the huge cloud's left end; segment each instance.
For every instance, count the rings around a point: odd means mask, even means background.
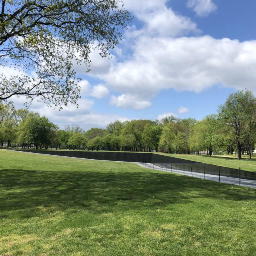
[[[118,97],[112,95],[110,97],[110,105],[115,105],[118,108],[132,108],[140,110],[149,108],[151,106],[151,102],[148,100],[140,100],[140,97],[136,95],[122,94]]]

